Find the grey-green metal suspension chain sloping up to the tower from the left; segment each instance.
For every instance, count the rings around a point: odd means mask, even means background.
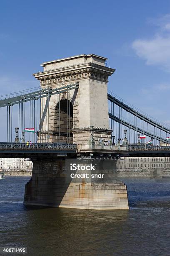
[[[60,94],[61,92],[66,92],[68,90],[74,90],[78,87],[79,87],[79,83],[77,82],[77,83],[69,84],[67,86],[63,86],[60,88],[52,89],[51,87],[49,87],[46,89],[37,90],[35,92],[26,93],[26,94],[23,94],[20,96],[7,98],[4,100],[0,100],[0,108],[10,106],[10,105],[19,104],[21,102],[38,100],[40,98],[47,97],[48,95],[51,96],[51,95]]]

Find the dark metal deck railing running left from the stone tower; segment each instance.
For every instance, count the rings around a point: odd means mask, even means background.
[[[76,144],[70,143],[9,143],[0,142],[0,149],[76,149]]]

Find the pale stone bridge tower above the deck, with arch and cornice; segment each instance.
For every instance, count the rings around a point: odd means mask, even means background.
[[[115,69],[107,58],[82,54],[44,62],[43,72],[33,74],[42,88],[79,83],[79,88],[41,100],[39,141],[76,143],[78,151],[111,140],[107,105],[107,82]]]

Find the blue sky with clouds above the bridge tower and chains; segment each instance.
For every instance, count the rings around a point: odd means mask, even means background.
[[[170,1],[0,1],[0,95],[38,86],[44,61],[108,58],[109,89],[170,124]]]

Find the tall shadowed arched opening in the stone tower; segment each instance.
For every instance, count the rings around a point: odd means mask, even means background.
[[[57,113],[57,141],[72,143],[73,108],[72,103],[65,99],[60,100],[56,106]]]

